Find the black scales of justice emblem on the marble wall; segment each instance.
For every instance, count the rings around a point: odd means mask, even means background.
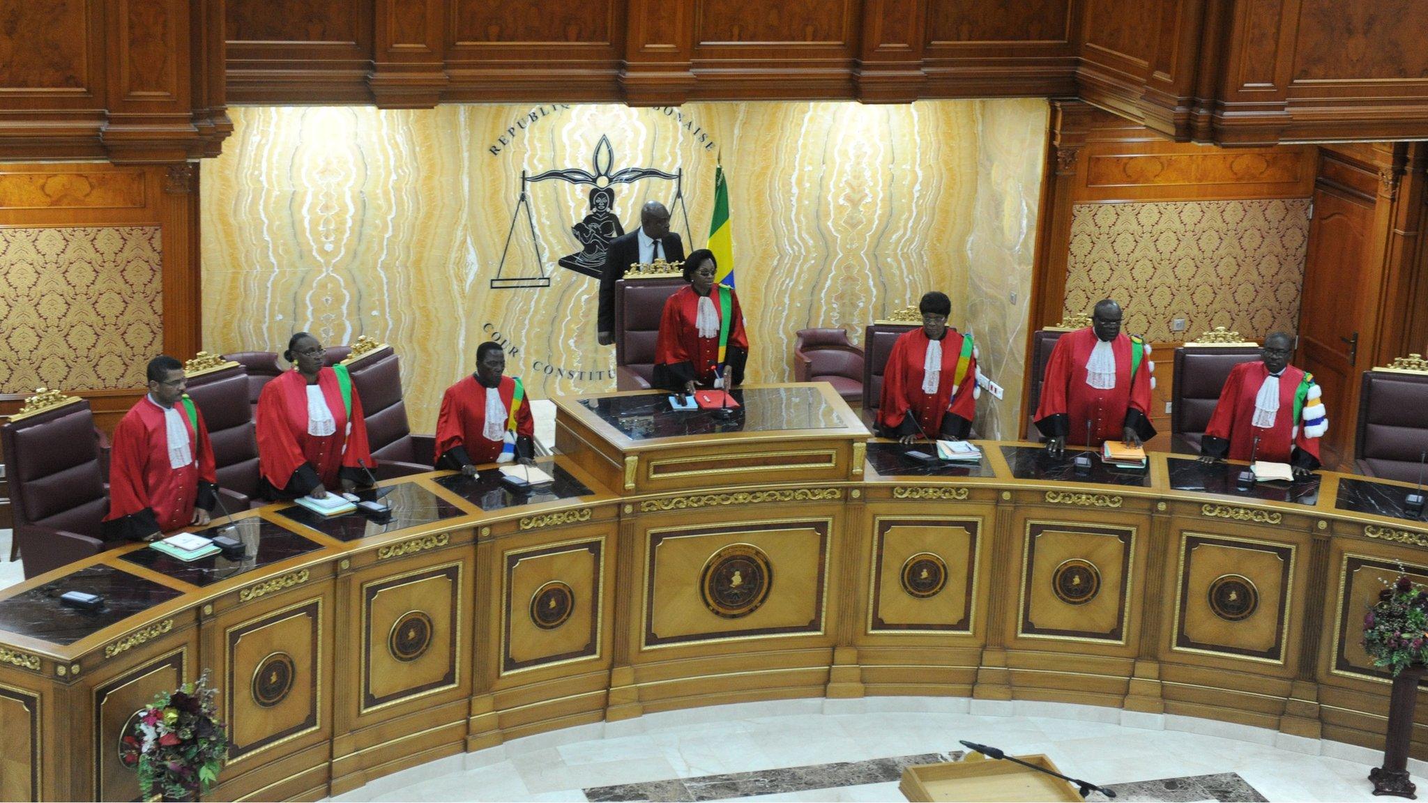
[[[555,260],[555,264],[567,270],[590,276],[591,279],[600,279],[600,271],[605,264],[605,250],[610,247],[610,240],[614,240],[625,233],[624,226],[620,223],[620,217],[615,214],[617,184],[634,184],[647,179],[674,181],[674,200],[670,203],[670,209],[673,211],[678,207],[680,214],[684,217],[684,237],[688,240],[690,214],[684,206],[684,169],[675,169],[673,173],[657,167],[621,167],[620,170],[615,170],[614,163],[615,153],[614,147],[610,144],[610,137],[601,134],[600,141],[595,143],[595,150],[590,157],[590,170],[584,170],[581,167],[564,167],[558,170],[545,170],[544,173],[537,173],[534,176],[528,176],[526,170],[521,170],[520,199],[516,201],[516,209],[511,211],[511,224],[506,231],[506,244],[501,247],[501,261],[496,269],[496,277],[491,279],[493,290],[550,287],[551,273],[547,270],[541,241],[536,234],[536,217],[531,213],[530,184],[540,181],[565,181],[568,184],[590,187],[590,209],[581,220],[575,221],[570,227],[570,233],[578,241],[580,250]],[[516,237],[516,226],[521,219],[523,210],[526,216],[526,227],[530,230],[531,249],[536,251],[536,270],[523,271],[520,270],[520,266],[514,266],[514,274],[507,274],[507,259],[510,257],[513,263],[520,259],[511,254],[511,240]]]

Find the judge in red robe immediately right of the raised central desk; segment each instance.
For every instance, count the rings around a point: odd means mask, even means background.
[[[877,429],[881,437],[912,443],[925,437],[964,439],[977,414],[977,346],[971,334],[947,327],[952,301],[927,293],[918,301],[921,329],[902,333],[883,371]]]

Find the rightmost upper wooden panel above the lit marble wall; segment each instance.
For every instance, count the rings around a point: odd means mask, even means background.
[[[1075,94],[1081,0],[927,6],[925,97]]]

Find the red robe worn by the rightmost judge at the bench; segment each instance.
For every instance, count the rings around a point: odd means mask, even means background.
[[[1272,427],[1254,426],[1254,400],[1259,394],[1269,370],[1264,363],[1240,363],[1230,370],[1215,414],[1210,417],[1205,436],[1200,442],[1202,454],[1230,457],[1231,460],[1258,460],[1291,463],[1304,469],[1319,467],[1319,436],[1328,432],[1328,417],[1319,400],[1319,386],[1309,377],[1308,394],[1294,420],[1294,394],[1305,374],[1301,369],[1288,366],[1279,374],[1279,412]],[[1305,426],[1308,422],[1308,426]],[[1258,450],[1254,439],[1259,439]]]

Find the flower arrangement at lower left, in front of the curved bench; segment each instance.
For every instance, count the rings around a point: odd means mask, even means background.
[[[208,686],[208,670],[203,670],[196,683],[160,692],[140,709],[134,732],[123,737],[120,757],[139,772],[144,799],[188,800],[218,780],[228,734],[218,722],[217,694]]]

